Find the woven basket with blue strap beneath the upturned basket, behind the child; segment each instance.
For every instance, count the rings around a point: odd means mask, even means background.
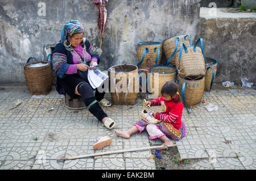
[[[179,85],[179,92],[180,95],[182,95],[181,100],[187,110],[190,107],[195,107],[200,104],[204,94],[204,77],[196,81],[191,81],[180,78],[180,76],[177,75],[176,83]]]

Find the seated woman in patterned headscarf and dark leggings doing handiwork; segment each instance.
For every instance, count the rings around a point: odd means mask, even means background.
[[[84,28],[79,21],[70,20],[64,24],[60,43],[56,45],[52,54],[52,61],[53,69],[57,73],[57,92],[64,95],[67,92],[73,98],[81,95],[90,113],[102,121],[105,127],[114,128],[115,121],[109,118],[100,106],[111,106],[104,98],[105,92],[96,89],[94,96],[88,81],[88,68],[93,66],[93,63],[95,65],[95,62],[99,64],[100,56],[96,48],[84,37]]]

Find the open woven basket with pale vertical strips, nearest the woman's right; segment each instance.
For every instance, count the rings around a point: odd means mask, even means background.
[[[109,68],[110,94],[114,104],[135,104],[139,93],[138,67],[130,64]]]

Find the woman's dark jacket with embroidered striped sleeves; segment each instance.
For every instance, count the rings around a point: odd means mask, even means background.
[[[88,40],[85,40],[84,44],[81,44],[81,46],[83,48],[85,46],[86,52],[88,52],[92,58],[96,57],[98,59],[97,63],[100,63],[100,56],[97,54],[96,48],[94,48]],[[52,65],[53,70],[57,73],[56,90],[59,94],[65,95],[65,90],[60,86],[59,78],[67,76],[66,72],[71,64],[74,64],[72,50],[67,49],[63,43],[58,43],[52,53]],[[88,71],[77,70],[77,73],[87,79]]]

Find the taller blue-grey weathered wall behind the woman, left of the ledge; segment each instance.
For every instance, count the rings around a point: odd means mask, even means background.
[[[24,83],[28,57],[46,58],[60,40],[66,20],[77,19],[85,36],[100,47],[97,6],[93,0],[3,0],[0,2],[0,83]],[[40,2],[46,4],[42,14]],[[163,41],[176,33],[195,35],[200,5],[190,0],[110,0],[102,39],[101,67],[137,64],[139,41]]]

